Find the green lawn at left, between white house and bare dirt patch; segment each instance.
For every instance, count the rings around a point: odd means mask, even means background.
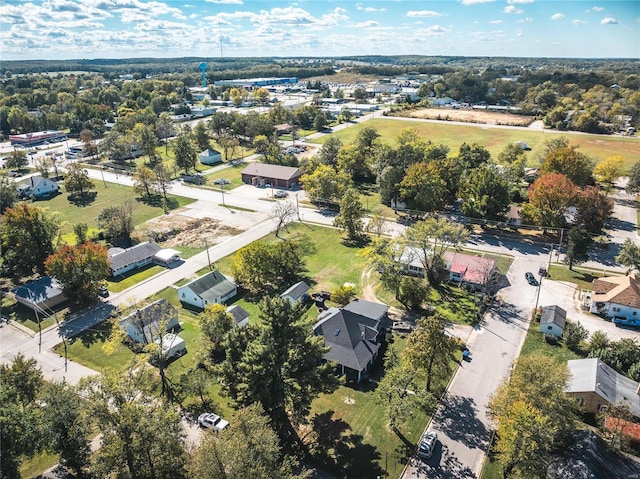
[[[161,204],[151,205],[143,202],[141,198],[135,196],[133,189],[128,186],[122,186],[116,183],[107,183],[107,186],[105,187],[101,181],[95,181],[94,183],[95,192],[97,193],[96,198],[94,201],[91,201],[86,205],[75,205],[71,203],[67,198],[66,193],[60,194],[47,201],[38,201],[34,204],[36,206],[49,208],[50,211],[58,212],[63,224],[68,225],[66,228],[63,228],[63,232],[65,233],[70,232],[71,227],[77,223],[86,223],[89,228],[97,228],[96,216],[98,216],[104,208],[107,206],[121,205],[127,199],[135,201],[133,222],[136,225],[144,223],[145,221],[164,213]],[[181,196],[169,195],[168,197],[173,200],[173,206],[175,208],[188,205],[195,201]],[[65,231],[66,229],[69,231]]]

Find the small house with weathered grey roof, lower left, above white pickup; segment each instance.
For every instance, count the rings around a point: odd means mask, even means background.
[[[178,311],[164,298],[138,308],[120,320],[120,327],[127,336],[140,344],[152,343],[177,326]]]

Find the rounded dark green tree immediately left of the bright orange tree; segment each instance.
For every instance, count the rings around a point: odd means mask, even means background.
[[[504,219],[511,202],[510,186],[493,166],[472,170],[460,187],[462,214],[487,220]]]

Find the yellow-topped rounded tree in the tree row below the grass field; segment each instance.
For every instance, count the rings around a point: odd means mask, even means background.
[[[399,187],[402,197],[413,209],[431,212],[445,206],[446,184],[433,162],[409,166]]]

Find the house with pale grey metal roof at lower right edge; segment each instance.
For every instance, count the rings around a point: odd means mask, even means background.
[[[616,372],[598,358],[567,361],[571,379],[566,392],[573,396],[588,413],[597,413],[611,404],[624,404],[640,417],[638,384]]]

